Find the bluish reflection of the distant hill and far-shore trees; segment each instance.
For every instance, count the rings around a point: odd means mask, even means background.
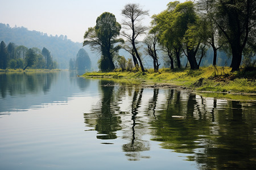
[[[0,73],[0,113],[65,103],[88,86],[90,80],[68,71]]]

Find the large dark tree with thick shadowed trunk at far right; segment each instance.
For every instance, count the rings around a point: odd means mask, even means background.
[[[251,32],[255,31],[256,1],[254,0],[214,0],[209,1],[215,15],[211,18],[217,24],[222,37],[232,49],[232,71],[239,70],[242,52]],[[255,39],[255,37],[254,37]]]

